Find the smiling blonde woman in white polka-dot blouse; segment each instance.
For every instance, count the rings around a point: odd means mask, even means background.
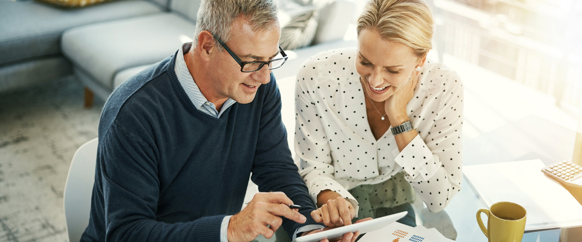
[[[416,197],[443,210],[462,180],[463,88],[427,61],[432,14],[423,0],[372,0],[357,49],[322,52],[297,74],[295,150],[316,221],[400,211]]]

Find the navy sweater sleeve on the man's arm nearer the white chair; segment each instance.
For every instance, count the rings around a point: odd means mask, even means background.
[[[157,157],[154,147],[116,122],[100,137],[96,188],[104,201],[99,205],[104,211],[105,240],[220,241],[226,215],[172,224],[156,221],[160,193]]]

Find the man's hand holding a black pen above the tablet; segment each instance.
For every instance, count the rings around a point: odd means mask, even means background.
[[[307,218],[289,208],[288,204],[293,204],[293,201],[282,192],[255,194],[243,211],[230,217],[228,241],[248,242],[254,240],[259,234],[271,239],[283,222],[279,216],[297,223],[304,223]]]

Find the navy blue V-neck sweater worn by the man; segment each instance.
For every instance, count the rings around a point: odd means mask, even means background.
[[[226,215],[240,211],[249,176],[261,192],[284,192],[315,223],[293,163],[271,82],[253,102],[220,118],[194,107],[178,82],[175,55],[119,86],[99,124],[91,218],[81,241],[220,241]]]

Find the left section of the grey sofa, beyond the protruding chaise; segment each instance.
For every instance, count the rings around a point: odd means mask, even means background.
[[[167,5],[168,0],[124,0],[63,9],[30,0],[0,0],[0,93],[72,74],[72,63],[61,49],[66,30],[160,13]]]

